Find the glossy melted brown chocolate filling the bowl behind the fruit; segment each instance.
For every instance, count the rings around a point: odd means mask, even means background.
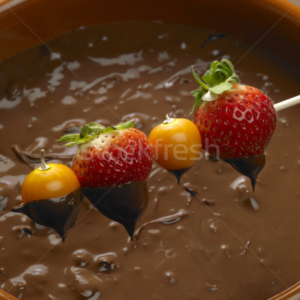
[[[89,121],[135,118],[148,134],[166,113],[191,118],[190,65],[201,73],[221,58],[275,102],[298,94],[299,70],[258,46],[161,22],[81,28],[0,65],[2,289],[23,300],[266,300],[299,280],[296,106],[278,115],[254,192],[204,153],[179,185],[154,163],[133,241],[86,198],[65,243],[10,211],[40,148],[69,165],[76,147],[55,139]]]

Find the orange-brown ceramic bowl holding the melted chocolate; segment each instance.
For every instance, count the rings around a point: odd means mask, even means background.
[[[0,0],[0,61],[79,26],[130,20],[221,31],[300,69],[300,8],[286,0]],[[271,299],[297,300],[299,290],[296,284]]]

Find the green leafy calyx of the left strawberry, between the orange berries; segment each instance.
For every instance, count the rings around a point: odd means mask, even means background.
[[[81,127],[80,133],[66,134],[57,139],[57,142],[65,142],[63,146],[73,146],[86,143],[90,138],[99,134],[108,133],[111,131],[127,129],[134,127],[136,124],[133,120],[119,123],[117,125],[105,127],[96,122],[89,122],[88,124]]]

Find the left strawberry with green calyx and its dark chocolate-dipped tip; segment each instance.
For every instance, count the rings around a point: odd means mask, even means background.
[[[72,161],[85,196],[105,216],[121,223],[130,237],[148,203],[146,179],[153,150],[132,120],[110,127],[90,122],[78,134],[62,136],[79,144]]]

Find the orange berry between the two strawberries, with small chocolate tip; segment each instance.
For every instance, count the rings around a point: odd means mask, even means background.
[[[154,151],[154,160],[171,172],[180,182],[201,155],[201,136],[196,125],[186,118],[166,119],[155,126],[149,140]]]

